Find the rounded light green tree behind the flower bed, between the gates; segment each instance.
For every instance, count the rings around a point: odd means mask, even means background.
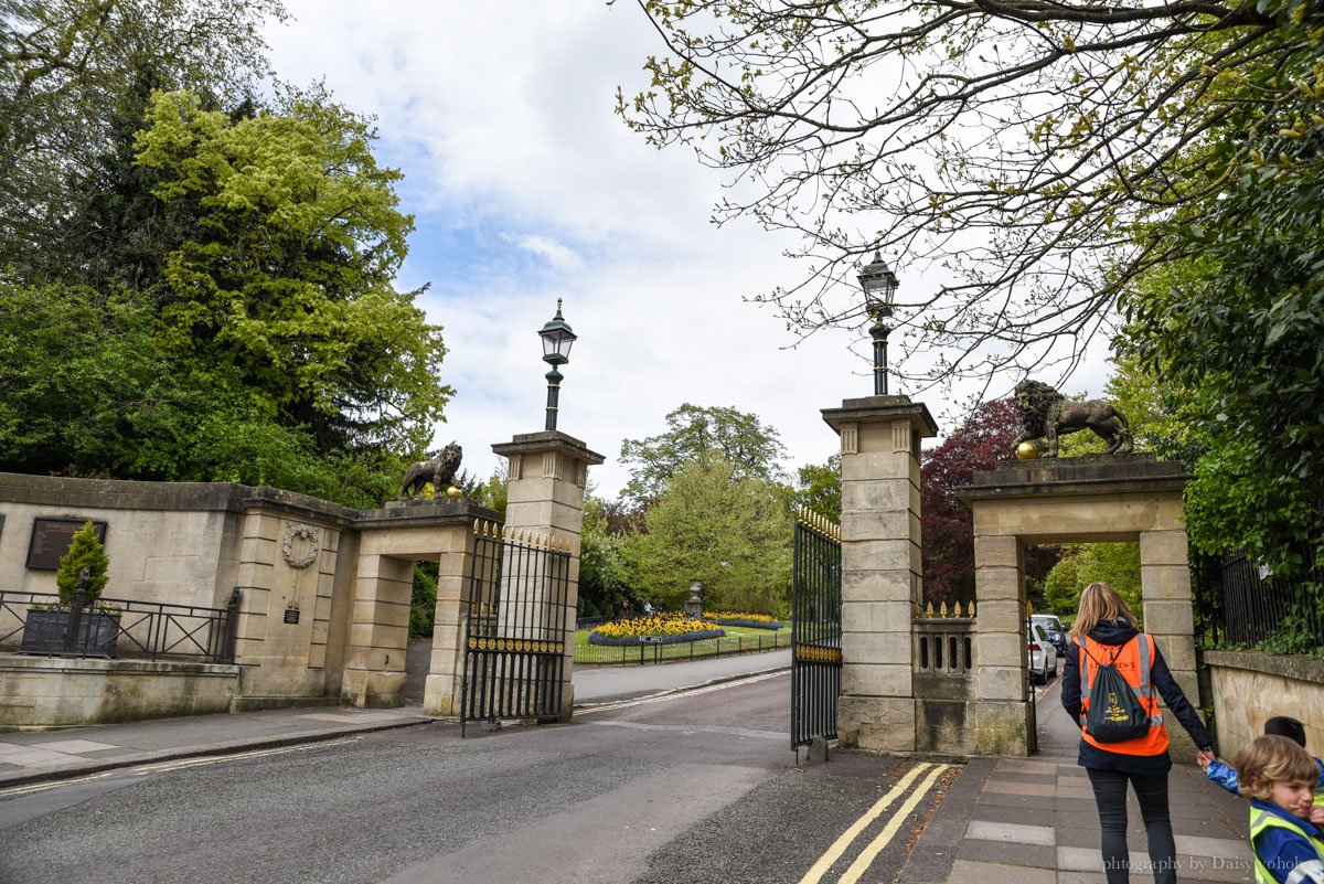
[[[632,588],[679,607],[700,580],[710,609],[780,614],[790,588],[789,498],[722,458],[690,461],[649,508],[647,531],[625,537]]]

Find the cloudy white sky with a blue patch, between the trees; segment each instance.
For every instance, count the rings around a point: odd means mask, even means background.
[[[324,78],[375,115],[379,161],[405,175],[417,230],[400,285],[430,283],[420,303],[445,327],[442,376],[455,388],[438,447],[459,442],[465,468],[486,476],[493,443],[543,429],[536,332],[563,298],[579,341],[557,429],[606,457],[591,471],[600,495],[629,478],[621,439],[662,431],[682,402],[757,414],[792,472],[837,450],[820,409],[873,393],[867,348],[846,331],[801,343],[744,303],[796,279],[788,242],[752,222],[710,224],[723,179],[613,114],[617,86],[638,91],[659,50],[633,4],[286,1],[294,20],[267,33],[275,73]],[[896,270],[903,287],[925,285]],[[1104,365],[1091,368],[1064,389],[1099,394]],[[923,401],[951,430],[944,398]]]

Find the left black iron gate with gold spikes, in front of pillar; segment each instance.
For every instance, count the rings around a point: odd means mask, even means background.
[[[474,524],[461,733],[469,721],[560,716],[569,565],[560,544]]]

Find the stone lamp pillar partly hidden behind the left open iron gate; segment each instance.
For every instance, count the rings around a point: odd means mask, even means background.
[[[559,430],[524,433],[510,442],[494,445],[493,451],[510,463],[506,529],[552,537],[571,551],[560,711],[561,721],[569,721],[575,707],[571,675],[575,666],[575,607],[579,602],[584,486],[588,483],[588,468],[602,463],[605,458]]]

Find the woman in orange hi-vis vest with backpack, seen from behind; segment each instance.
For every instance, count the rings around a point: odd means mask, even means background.
[[[1090,775],[1094,799],[1099,806],[1103,867],[1108,884],[1131,881],[1131,854],[1127,850],[1128,782],[1140,802],[1140,817],[1149,836],[1149,865],[1155,881],[1174,884],[1177,846],[1168,813],[1168,772],[1172,769],[1172,758],[1155,691],[1200,746],[1201,765],[1214,757],[1214,737],[1168,671],[1158,643],[1148,633],[1137,631],[1136,623],[1136,615],[1112,586],[1098,582],[1084,588],[1062,672],[1062,708],[1080,725],[1078,764]],[[1115,667],[1133,689],[1148,716],[1144,736],[1123,742],[1100,742],[1091,736],[1086,724],[1090,688],[1100,666]]]

